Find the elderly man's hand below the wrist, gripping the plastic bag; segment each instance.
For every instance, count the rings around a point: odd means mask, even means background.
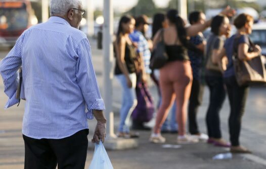
[[[105,130],[106,130],[106,123],[97,122],[92,142],[97,144],[100,143],[100,140],[104,142],[106,136]]]

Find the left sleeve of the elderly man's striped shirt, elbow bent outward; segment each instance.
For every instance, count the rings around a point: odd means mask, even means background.
[[[23,34],[18,38],[15,46],[11,49],[8,55],[0,62],[0,73],[2,75],[5,94],[8,96],[8,102],[5,109],[17,104],[16,91],[18,88],[17,71],[22,64],[21,51],[22,51]]]

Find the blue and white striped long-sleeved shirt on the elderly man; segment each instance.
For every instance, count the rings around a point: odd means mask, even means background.
[[[60,139],[87,129],[92,110],[104,110],[86,35],[62,18],[26,30],[0,63],[5,108],[18,103],[17,70],[22,65],[25,113],[22,133]]]

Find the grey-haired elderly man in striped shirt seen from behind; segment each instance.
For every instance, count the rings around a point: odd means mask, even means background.
[[[87,119],[97,119],[93,142],[105,139],[106,118],[90,44],[78,30],[81,0],[51,0],[51,18],[26,30],[0,64],[5,108],[16,99],[23,69],[25,168],[84,168]]]

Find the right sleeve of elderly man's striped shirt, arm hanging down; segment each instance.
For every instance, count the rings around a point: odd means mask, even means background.
[[[81,89],[90,116],[92,110],[105,110],[96,73],[93,68],[91,47],[87,39],[83,39],[77,47],[76,78]]]

